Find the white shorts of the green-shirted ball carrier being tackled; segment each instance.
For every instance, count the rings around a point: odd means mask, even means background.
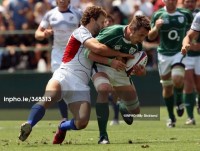
[[[130,78],[127,76],[125,71],[117,71],[114,68],[96,64],[97,72],[104,72],[108,75],[110,84],[112,86],[126,86],[131,85]],[[96,73],[93,69],[93,75]]]

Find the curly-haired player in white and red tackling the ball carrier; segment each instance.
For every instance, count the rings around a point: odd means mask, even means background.
[[[60,123],[53,144],[61,144],[66,131],[80,130],[87,126],[91,108],[88,83],[92,67],[92,61],[88,58],[116,70],[124,70],[126,65],[123,62],[106,57],[132,57],[132,55],[114,51],[93,38],[103,28],[105,17],[106,12],[101,7],[92,6],[85,10],[81,18],[81,26],[70,36],[62,64],[49,80],[43,99],[33,105],[27,122],[21,125],[19,134],[21,141],[27,139],[32,127],[44,116],[45,110],[61,98],[68,104],[73,118]],[[85,48],[90,49],[91,52],[85,53]],[[45,101],[46,98],[49,100]]]

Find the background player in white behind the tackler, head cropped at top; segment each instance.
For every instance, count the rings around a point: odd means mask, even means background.
[[[70,6],[70,0],[56,0],[57,7],[48,11],[43,17],[35,38],[44,40],[53,35],[51,52],[51,71],[59,68],[67,41],[72,32],[79,27],[82,12]],[[63,119],[67,119],[67,105],[64,100],[58,102]]]

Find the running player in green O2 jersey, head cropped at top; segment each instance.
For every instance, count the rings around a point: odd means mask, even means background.
[[[156,11],[151,18],[151,31],[148,38],[159,37],[158,70],[163,87],[162,95],[167,106],[169,121],[167,127],[175,127],[174,102],[178,116],[182,116],[184,106],[182,91],[184,85],[183,55],[180,53],[182,40],[192,22],[188,10],[177,8],[177,0],[163,0],[165,6]]]

